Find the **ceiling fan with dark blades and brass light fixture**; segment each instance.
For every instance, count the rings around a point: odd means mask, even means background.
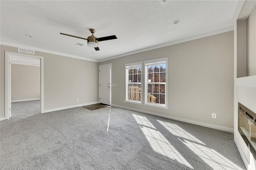
[[[64,33],[60,33],[60,34],[62,34],[64,36],[70,36],[70,37],[74,37],[74,38],[80,38],[80,39],[83,39],[83,40],[87,40],[88,47],[93,47],[96,51],[100,50],[99,47],[98,47],[98,45],[99,45],[98,42],[117,39],[117,37],[115,35],[114,36],[107,36],[107,37],[97,38],[93,35],[95,33],[95,30],[92,29],[92,28],[89,29],[89,30],[92,33],[92,35],[87,37],[87,39],[82,38],[82,37],[72,36],[72,35],[69,35],[69,34],[64,34]]]

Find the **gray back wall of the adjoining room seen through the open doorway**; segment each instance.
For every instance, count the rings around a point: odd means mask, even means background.
[[[11,64],[12,101],[40,98],[40,67]]]

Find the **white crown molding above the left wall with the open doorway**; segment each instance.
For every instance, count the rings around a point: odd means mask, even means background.
[[[82,59],[82,60],[87,60],[87,61],[98,62],[98,60],[95,60],[95,59],[89,59],[89,58],[80,57],[80,56],[76,56],[76,55],[70,55],[70,54],[60,53],[60,52],[56,52],[56,51],[50,51],[50,50],[47,50],[47,49],[41,49],[41,48],[36,48],[36,47],[30,47],[30,46],[20,45],[20,44],[16,44],[16,43],[10,43],[10,42],[3,42],[3,41],[0,41],[0,44],[1,44],[1,45],[12,46],[12,47],[19,47],[19,48],[32,49],[32,50],[40,51],[40,52],[44,52],[44,53],[51,53],[51,54],[56,54],[56,55],[62,55],[62,56],[65,56],[65,57],[71,57],[71,58],[76,58],[76,59]]]

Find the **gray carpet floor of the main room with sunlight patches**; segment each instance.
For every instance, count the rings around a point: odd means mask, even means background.
[[[0,132],[1,170],[246,169],[233,133],[116,107],[14,116]]]

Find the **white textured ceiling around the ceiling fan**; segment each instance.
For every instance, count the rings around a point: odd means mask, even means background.
[[[238,1],[0,1],[2,42],[102,61],[109,57],[212,32],[233,25]],[[173,24],[174,20],[180,20]],[[77,46],[87,38],[116,35],[99,42],[100,51]],[[25,35],[28,34],[32,38]],[[32,48],[33,49],[33,48]],[[92,53],[94,52],[94,53]]]

